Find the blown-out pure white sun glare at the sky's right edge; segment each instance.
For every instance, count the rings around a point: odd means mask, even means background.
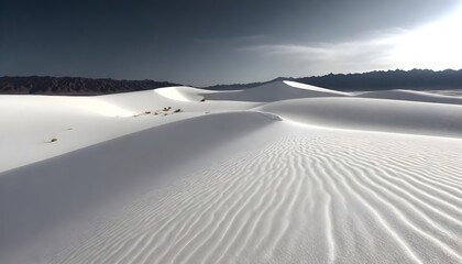
[[[462,68],[462,7],[446,19],[393,37],[391,61],[400,68]]]

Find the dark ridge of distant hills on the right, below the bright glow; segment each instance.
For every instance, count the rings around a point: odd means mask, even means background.
[[[462,69],[447,69],[441,72],[433,72],[429,69],[413,69],[406,72],[397,69],[387,72],[370,72],[364,74],[330,74],[302,78],[279,77],[274,80],[279,79],[295,80],[307,85],[341,91],[385,89],[462,89]],[[272,82],[274,80],[253,84],[218,85],[207,88],[215,90],[246,89]]]

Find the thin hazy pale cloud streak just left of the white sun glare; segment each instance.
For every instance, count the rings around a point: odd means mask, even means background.
[[[263,59],[289,67],[295,74],[361,72],[391,67],[392,38],[374,38],[342,43],[274,44],[238,48]]]

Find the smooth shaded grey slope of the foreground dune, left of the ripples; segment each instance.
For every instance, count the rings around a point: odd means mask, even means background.
[[[0,249],[37,240],[46,230],[85,216],[90,207],[140,191],[146,184],[155,189],[172,179],[166,175],[178,164],[182,169],[195,167],[195,160],[208,152],[274,122],[258,112],[209,114],[6,172],[0,176]]]

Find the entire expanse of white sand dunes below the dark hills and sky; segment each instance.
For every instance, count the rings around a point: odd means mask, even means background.
[[[0,96],[0,263],[462,263],[462,107],[388,99]]]

